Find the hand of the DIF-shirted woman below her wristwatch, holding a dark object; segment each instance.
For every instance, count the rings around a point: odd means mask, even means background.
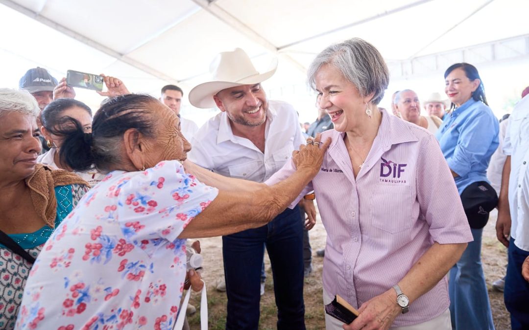
[[[402,308],[397,305],[396,297],[386,292],[363,303],[358,312],[360,314],[351,324],[343,325],[344,330],[387,330],[402,313]]]

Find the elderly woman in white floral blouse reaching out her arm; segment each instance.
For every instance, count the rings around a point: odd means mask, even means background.
[[[270,221],[316,174],[329,145],[302,147],[296,173],[271,187],[202,172],[228,191],[186,173],[181,162],[190,145],[179,119],[150,96],[105,103],[91,134],[72,125],[77,129],[63,132],[62,161],[76,171],[95,164],[108,175],[44,247],[17,328],[172,328],[184,287],[185,239]],[[197,273],[189,276],[193,282]]]

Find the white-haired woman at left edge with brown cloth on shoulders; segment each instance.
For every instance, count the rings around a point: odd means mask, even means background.
[[[87,191],[75,174],[37,164],[37,101],[0,89],[0,328],[12,329],[35,258]]]

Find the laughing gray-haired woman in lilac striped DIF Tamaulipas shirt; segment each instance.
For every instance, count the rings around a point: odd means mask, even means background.
[[[435,137],[377,107],[389,72],[366,41],[329,46],[308,79],[334,130],[294,203],[314,190],[327,231],[324,304],[338,295],[360,312],[348,325],[326,315],[327,329],[451,329],[446,274],[472,235]]]

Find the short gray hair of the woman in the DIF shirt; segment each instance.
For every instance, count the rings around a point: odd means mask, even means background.
[[[358,88],[360,96],[373,93],[375,105],[384,97],[389,84],[389,70],[379,51],[367,41],[353,38],[330,45],[312,61],[308,68],[308,82],[316,89],[316,73],[322,65],[331,64]]]

